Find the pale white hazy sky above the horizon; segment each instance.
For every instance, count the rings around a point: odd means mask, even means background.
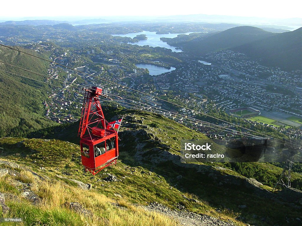
[[[299,3],[300,2],[300,3]],[[27,0],[2,1],[0,19],[209,14],[268,18],[302,17],[298,0]]]

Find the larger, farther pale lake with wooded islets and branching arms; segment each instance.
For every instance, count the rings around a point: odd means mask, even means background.
[[[188,33],[182,33],[185,35],[191,34],[194,32],[188,32]],[[121,37],[130,37],[130,38],[134,38],[137,35],[146,35],[146,37],[148,38],[147,40],[140,40],[139,42],[134,42],[131,43],[129,42],[128,44],[131,45],[138,45],[138,46],[152,46],[152,47],[163,47],[166,49],[171,49],[172,52],[182,52],[181,49],[176,49],[175,46],[170,46],[167,44],[167,42],[163,42],[160,40],[160,38],[165,37],[165,38],[175,38],[178,35],[180,35],[181,33],[177,33],[177,34],[156,34],[155,31],[143,31],[143,32],[138,32],[138,33],[128,33],[128,34],[120,34],[120,35],[112,35],[112,36],[121,36]]]

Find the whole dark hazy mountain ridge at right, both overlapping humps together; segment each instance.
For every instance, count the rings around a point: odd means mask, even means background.
[[[196,37],[191,36],[193,38],[190,39],[188,36],[185,42],[181,36],[164,41],[196,56],[229,49],[244,53],[265,66],[292,71],[302,70],[301,33],[301,28],[271,33],[257,27],[239,26],[207,36],[196,34]]]

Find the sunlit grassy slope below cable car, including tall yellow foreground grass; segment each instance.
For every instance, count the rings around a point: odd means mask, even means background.
[[[174,187],[171,188],[171,185],[164,177],[148,171],[148,169],[143,167],[131,167],[118,161],[116,166],[107,168],[106,171],[102,172],[114,174],[122,181],[111,183],[106,183],[102,180],[98,181],[107,175],[103,175],[101,172],[93,178],[91,174],[84,173],[80,159],[78,158],[79,146],[72,143],[58,140],[2,138],[0,139],[0,146],[5,149],[5,160],[19,160],[18,163],[22,161],[27,169],[32,169],[40,175],[58,179],[55,176],[58,174],[93,185],[92,191],[85,191],[86,194],[84,195],[79,189],[74,188],[74,183],[68,180],[62,179],[59,183],[54,182],[51,184],[43,184],[41,182],[40,185],[38,181],[38,185],[35,185],[36,188],[35,186],[32,187],[34,187],[33,190],[35,193],[45,199],[43,205],[37,207],[30,205],[28,207],[28,203],[23,199],[20,206],[17,206],[17,203],[14,201],[8,202],[8,206],[13,209],[13,216],[20,216],[22,213],[21,217],[28,219],[28,221],[34,221],[33,218],[37,218],[46,223],[52,221],[51,223],[63,225],[62,222],[58,222],[58,215],[62,215],[60,217],[63,219],[67,218],[67,222],[71,221],[66,215],[66,209],[60,208],[65,201],[80,202],[88,207],[88,209],[96,211],[98,217],[107,219],[107,221],[113,225],[175,225],[175,222],[173,223],[173,221],[169,221],[161,215],[145,213],[130,205],[130,203],[145,205],[146,203],[155,201],[171,208],[175,208],[175,204],[180,203],[188,209],[198,210],[198,212],[210,212],[211,215],[222,219],[233,218],[232,215],[216,213],[215,209],[206,203],[188,201],[182,195],[190,198],[194,195],[181,192]],[[50,154],[51,152],[53,152],[53,154]],[[57,158],[57,156],[60,157]],[[33,163],[33,160],[36,162]],[[1,165],[0,167],[5,168],[5,165]],[[39,167],[43,167],[43,170],[38,170]],[[70,174],[70,176],[66,176],[66,174]],[[23,180],[23,182],[30,182],[27,177],[25,177],[27,179],[22,178],[23,177],[21,177],[21,180]],[[8,176],[0,181],[0,189],[2,192],[8,192],[10,190],[11,193],[18,195],[18,191],[11,185],[13,179],[16,178]],[[64,182],[69,185],[62,184]],[[44,188],[45,186],[46,188]],[[55,186],[56,191],[52,190],[54,189],[52,186]],[[43,189],[40,187],[43,187]],[[50,192],[49,190],[52,191]],[[121,195],[122,198],[117,197],[115,194]],[[122,211],[118,208],[114,208],[110,204],[113,202],[118,202],[121,206],[126,206],[128,209]],[[29,214],[30,211],[33,211],[33,215]],[[52,214],[55,213],[58,215],[51,220]],[[117,214],[120,218],[115,219],[114,214]],[[70,224],[83,225],[83,219],[81,219],[82,216],[76,214],[73,223]],[[101,221],[98,221],[96,218],[90,219],[88,222],[91,223],[92,220],[96,221],[95,225],[101,223]],[[156,221],[162,223],[155,223]],[[130,224],[129,222],[135,222],[135,224]],[[142,223],[140,224],[140,222]],[[237,221],[237,223],[241,225],[240,222]]]

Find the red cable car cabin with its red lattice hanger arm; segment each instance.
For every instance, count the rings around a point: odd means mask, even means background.
[[[104,96],[102,89],[93,86],[84,91],[85,97],[78,133],[81,138],[81,158],[85,171],[95,175],[103,168],[116,164],[118,137],[117,131],[114,129],[115,124],[109,124],[104,118],[98,98]],[[118,121],[120,124],[121,120]]]

